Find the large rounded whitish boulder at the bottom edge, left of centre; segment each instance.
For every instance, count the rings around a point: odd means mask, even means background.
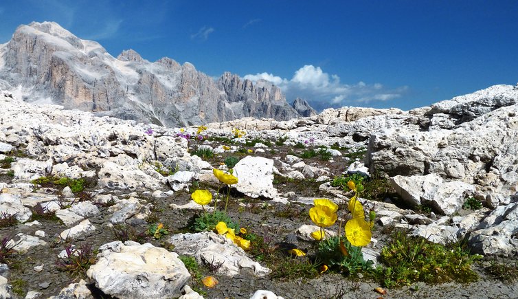
[[[181,295],[190,278],[178,254],[150,243],[120,241],[99,248],[87,276],[95,287],[117,298],[166,298]]]

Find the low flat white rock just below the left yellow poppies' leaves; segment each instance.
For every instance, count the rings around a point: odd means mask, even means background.
[[[168,241],[174,245],[175,252],[194,256],[200,264],[212,261],[223,263],[218,273],[225,276],[235,276],[243,268],[250,269],[256,276],[264,276],[271,272],[270,269],[251,260],[232,240],[214,232],[175,234]]]

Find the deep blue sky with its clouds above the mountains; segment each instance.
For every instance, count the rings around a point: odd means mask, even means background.
[[[267,78],[317,109],[412,109],[518,82],[517,1],[4,0],[0,43],[55,21],[113,56]]]

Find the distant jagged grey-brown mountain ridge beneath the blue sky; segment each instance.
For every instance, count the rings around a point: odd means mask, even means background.
[[[131,49],[114,58],[54,22],[21,25],[0,45],[0,88],[19,91],[27,102],[164,126],[315,114],[305,100],[291,107],[271,82],[230,73],[214,81],[190,63],[151,63]]]

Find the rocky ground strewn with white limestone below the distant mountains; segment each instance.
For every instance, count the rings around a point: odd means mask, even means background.
[[[412,111],[344,107],[205,129],[98,118],[3,91],[0,297],[513,298],[516,281],[488,269],[517,262],[517,99],[518,86],[496,85]],[[213,175],[229,167],[232,188]],[[322,197],[346,206],[352,193],[333,181],[352,173],[366,177],[361,201],[376,213],[365,260],[386,267],[395,230],[465,241],[484,256],[471,265],[478,280],[386,287],[388,277],[313,269],[308,210]],[[263,244],[245,251],[193,230],[214,209],[192,201],[197,189],[219,192],[217,210],[228,194],[230,219]],[[286,254],[295,247],[307,256]],[[218,285],[201,283],[207,276]]]

